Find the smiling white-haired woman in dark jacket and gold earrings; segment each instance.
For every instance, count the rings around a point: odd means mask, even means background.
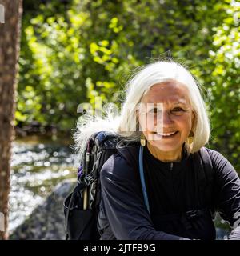
[[[127,85],[119,117],[79,123],[78,146],[98,130],[128,142],[102,166],[102,240],[215,239],[216,211],[234,226],[229,239],[240,239],[240,180],[222,154],[204,147],[209,119],[183,66],[142,68]]]

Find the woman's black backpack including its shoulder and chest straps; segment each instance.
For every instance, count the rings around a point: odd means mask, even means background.
[[[112,154],[118,153],[118,142],[121,142],[121,139],[118,134],[109,131],[98,132],[89,138],[84,150],[81,166],[78,169],[77,185],[63,202],[66,239],[100,239],[101,235],[97,228],[99,204],[101,201],[99,175],[106,160]],[[214,172],[210,155],[205,147],[202,147],[197,154],[194,154],[194,165],[198,166],[198,168],[201,166],[203,170],[198,174],[199,192],[204,193],[206,198],[211,198]],[[139,169],[140,177],[142,177],[143,170],[141,170],[141,167]],[[142,182],[142,191],[145,204],[148,206],[144,181]],[[211,200],[208,204],[212,206]],[[198,212],[194,211],[187,214],[190,214],[190,217],[195,217]]]

